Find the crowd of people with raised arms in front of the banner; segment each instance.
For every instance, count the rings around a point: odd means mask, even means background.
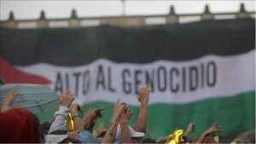
[[[100,124],[96,131],[96,120],[102,117],[104,107],[90,109],[84,118],[79,117],[81,107],[74,103],[74,95],[67,91],[60,97],[60,108],[50,122],[40,124],[38,118],[26,108],[11,108],[17,92],[13,91],[3,99],[0,113],[1,143],[219,143],[218,135],[222,128],[213,124],[199,138],[190,138],[195,131],[195,124],[188,125],[187,130],[175,130],[172,135],[159,140],[143,139],[148,123],[148,100],[150,88],[143,86],[137,95],[140,110],[137,123],[129,125],[131,109],[125,101],[117,100],[108,129]],[[66,128],[65,123],[68,124]],[[231,143],[253,142],[236,139]]]

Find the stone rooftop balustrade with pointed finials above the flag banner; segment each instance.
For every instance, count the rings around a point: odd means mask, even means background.
[[[229,19],[255,19],[255,11],[247,12],[244,4],[241,3],[237,13],[218,13],[212,14],[206,5],[203,14],[176,14],[174,7],[170,13],[165,15],[135,15],[135,16],[112,16],[112,17],[93,17],[79,18],[73,9],[70,18],[67,19],[46,19],[44,11],[41,11],[37,20],[15,20],[14,13],[10,12],[9,19],[0,21],[1,27],[8,28],[61,28],[61,27],[89,27],[111,25],[120,27],[132,26],[155,26],[166,24],[183,24],[201,20],[229,20]]]

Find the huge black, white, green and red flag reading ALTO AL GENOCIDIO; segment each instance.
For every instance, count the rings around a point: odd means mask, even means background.
[[[134,115],[137,91],[153,91],[148,130],[157,138],[196,124],[200,135],[213,123],[223,135],[255,129],[255,21],[207,20],[183,25],[119,28],[4,29],[0,31],[2,82],[71,89],[84,107],[121,99]],[[49,121],[55,110],[39,114]]]

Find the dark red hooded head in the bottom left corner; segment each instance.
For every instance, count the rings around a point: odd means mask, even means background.
[[[0,113],[0,140],[3,143],[43,143],[38,118],[25,108]]]

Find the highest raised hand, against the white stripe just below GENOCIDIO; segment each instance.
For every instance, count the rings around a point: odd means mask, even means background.
[[[141,89],[139,90],[139,94],[137,95],[137,101],[141,103],[148,103],[150,91],[151,88],[147,85],[141,87]]]

